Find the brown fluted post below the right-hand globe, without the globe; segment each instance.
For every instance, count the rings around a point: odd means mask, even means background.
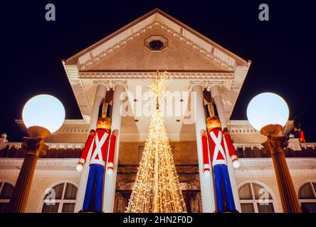
[[[278,189],[282,202],[284,213],[302,213],[300,203],[297,199],[290,170],[285,160],[286,136],[273,136],[268,137],[268,140],[263,143],[265,148],[268,148],[273,160],[275,170],[275,177],[278,182]]]

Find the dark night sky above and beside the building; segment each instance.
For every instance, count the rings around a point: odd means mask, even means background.
[[[245,120],[248,102],[260,92],[283,96],[290,119],[316,142],[316,35],[312,1],[1,1],[0,133],[11,142],[23,132],[14,119],[36,94],[63,102],[66,118],[82,118],[61,60],[159,8],[224,48],[252,60],[232,119]],[[56,6],[56,21],[45,6]],[[268,4],[270,21],[258,20]]]

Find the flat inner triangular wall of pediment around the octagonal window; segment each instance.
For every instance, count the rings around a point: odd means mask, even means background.
[[[163,50],[151,50],[146,46],[149,38],[164,38],[166,44]],[[174,38],[158,26],[142,33],[122,48],[118,48],[98,62],[86,67],[85,70],[175,70],[175,71],[227,71],[225,67],[216,64],[213,60],[204,57],[190,45]],[[83,70],[83,71],[85,71]]]

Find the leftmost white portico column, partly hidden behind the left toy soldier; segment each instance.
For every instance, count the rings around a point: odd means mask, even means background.
[[[91,118],[90,118],[88,133],[90,132],[91,129],[95,129],[95,126],[97,124],[99,106],[101,104],[102,99],[105,97],[107,87],[108,87],[107,83],[108,82],[98,82],[97,84],[97,89],[95,92],[95,100],[93,102],[93,109],[91,111]],[[88,160],[90,160],[90,155],[91,154],[88,154],[87,162],[85,162],[85,165],[83,165],[83,170],[81,172],[77,199],[75,202],[75,212],[78,212],[81,209],[83,209],[83,200],[85,199],[85,187],[87,187],[88,174],[89,174],[89,169],[90,169],[89,162],[88,162]]]

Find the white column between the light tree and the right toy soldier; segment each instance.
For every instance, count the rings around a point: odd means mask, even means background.
[[[215,211],[214,204],[214,184],[212,173],[211,175],[204,175],[204,164],[203,164],[203,148],[201,141],[201,131],[206,130],[206,118],[204,114],[204,97],[203,97],[204,83],[200,81],[191,82],[191,92],[196,93],[195,108],[195,133],[196,133],[196,148],[199,160],[199,177],[200,177],[200,187],[201,187],[201,199],[202,207],[204,213],[212,213]],[[194,96],[191,96],[191,99]],[[212,170],[210,170],[212,171]]]

